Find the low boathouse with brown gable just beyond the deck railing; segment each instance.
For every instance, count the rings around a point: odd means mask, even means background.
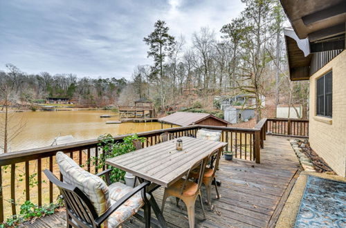
[[[178,126],[189,126],[194,124],[209,125],[209,126],[227,126],[226,120],[222,120],[215,115],[208,113],[185,113],[176,112],[158,119],[158,122],[172,124]]]

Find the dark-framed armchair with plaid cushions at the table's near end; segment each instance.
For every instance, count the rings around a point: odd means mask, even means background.
[[[64,182],[47,169],[44,173],[60,189],[68,227],[118,227],[142,207],[145,227],[150,227],[150,206],[145,193],[148,182],[135,188],[120,182],[110,184],[111,169],[93,175],[62,152],[57,153],[56,160]],[[102,175],[109,186],[100,178]]]

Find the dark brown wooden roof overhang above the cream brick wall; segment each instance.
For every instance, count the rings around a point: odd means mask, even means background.
[[[345,49],[345,0],[280,0],[293,29],[285,29],[291,80],[309,79],[312,53]]]

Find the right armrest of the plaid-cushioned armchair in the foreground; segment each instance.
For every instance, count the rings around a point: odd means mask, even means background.
[[[129,200],[129,198],[131,198],[131,196],[134,196],[134,194],[138,193],[138,191],[142,190],[144,195],[145,195],[145,187],[147,187],[147,185],[149,185],[149,184],[150,184],[149,182],[143,182],[143,183],[139,184],[137,187],[135,187],[132,191],[127,193],[125,196],[122,196],[122,198],[120,198],[120,200],[118,200],[115,204],[111,205],[111,207],[109,207],[107,209],[107,211],[105,211],[100,217],[95,219],[95,224],[100,226],[102,224],[102,222],[104,222],[104,220],[107,220],[107,218],[111,215],[111,213],[116,211],[116,209],[118,209],[127,200]]]

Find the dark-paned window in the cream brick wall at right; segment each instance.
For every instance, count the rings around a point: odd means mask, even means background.
[[[316,115],[330,117],[332,111],[332,73],[317,79]]]

